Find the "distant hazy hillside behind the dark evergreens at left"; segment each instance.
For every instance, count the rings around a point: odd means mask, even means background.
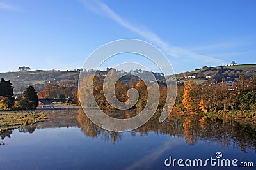
[[[79,78],[78,71],[17,71],[0,73],[0,78],[10,80],[14,87],[14,93],[23,92],[28,85],[33,85],[37,91],[47,83],[61,83],[71,81],[76,84]],[[70,82],[69,82],[70,83]]]

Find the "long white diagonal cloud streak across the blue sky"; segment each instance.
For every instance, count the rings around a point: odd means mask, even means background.
[[[192,52],[190,50],[187,50],[185,48],[180,48],[178,46],[170,45],[169,43],[164,42],[157,34],[154,32],[148,31],[145,29],[145,27],[141,28],[137,25],[131,24],[127,22],[127,20],[124,20],[124,18],[120,17],[118,14],[116,14],[109,6],[106,4],[100,2],[100,1],[86,1],[86,0],[80,0],[81,4],[83,4],[86,8],[89,10],[104,15],[108,18],[111,18],[114,20],[117,24],[122,25],[129,31],[135,32],[136,34],[140,35],[141,37],[147,39],[147,41],[150,41],[150,43],[158,46],[161,48],[161,50],[166,54],[170,55],[172,57],[178,58],[178,57],[185,57],[195,60],[200,60],[204,62],[214,62],[215,64],[222,64],[224,61],[221,59],[216,59],[214,57],[209,57],[206,55],[200,55],[198,53]]]

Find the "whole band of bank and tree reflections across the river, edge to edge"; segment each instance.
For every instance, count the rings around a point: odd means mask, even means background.
[[[48,111],[49,120],[40,122],[37,126],[20,127],[19,132],[33,133],[35,129],[60,128],[60,127],[78,127],[83,134],[89,138],[100,138],[103,141],[113,144],[122,140],[122,132],[106,131],[86,117],[83,110],[76,111]],[[136,112],[124,111],[123,113],[115,113],[120,118],[133,117]],[[111,111],[108,112],[111,115]],[[199,117],[198,115],[169,115],[163,122],[159,123],[160,114],[154,115],[147,124],[142,127],[126,132],[131,136],[147,136],[148,133],[164,134],[173,137],[184,137],[188,145],[194,145],[198,141],[208,143],[220,143],[223,147],[233,145],[239,146],[243,152],[248,149],[256,152],[256,127],[255,124],[241,124],[234,121],[223,121],[219,119],[211,119],[208,117]],[[109,122],[110,124],[111,122]],[[2,133],[1,139],[9,137],[12,130]]]

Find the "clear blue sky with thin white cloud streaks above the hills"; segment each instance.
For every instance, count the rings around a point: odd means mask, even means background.
[[[0,0],[0,72],[81,68],[90,53],[118,39],[151,43],[175,73],[233,60],[255,64],[255,7],[254,0]],[[125,56],[104,66],[147,63]]]

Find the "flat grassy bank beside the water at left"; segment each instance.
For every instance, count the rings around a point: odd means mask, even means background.
[[[0,133],[21,125],[34,125],[46,118],[47,115],[41,111],[0,111]]]

